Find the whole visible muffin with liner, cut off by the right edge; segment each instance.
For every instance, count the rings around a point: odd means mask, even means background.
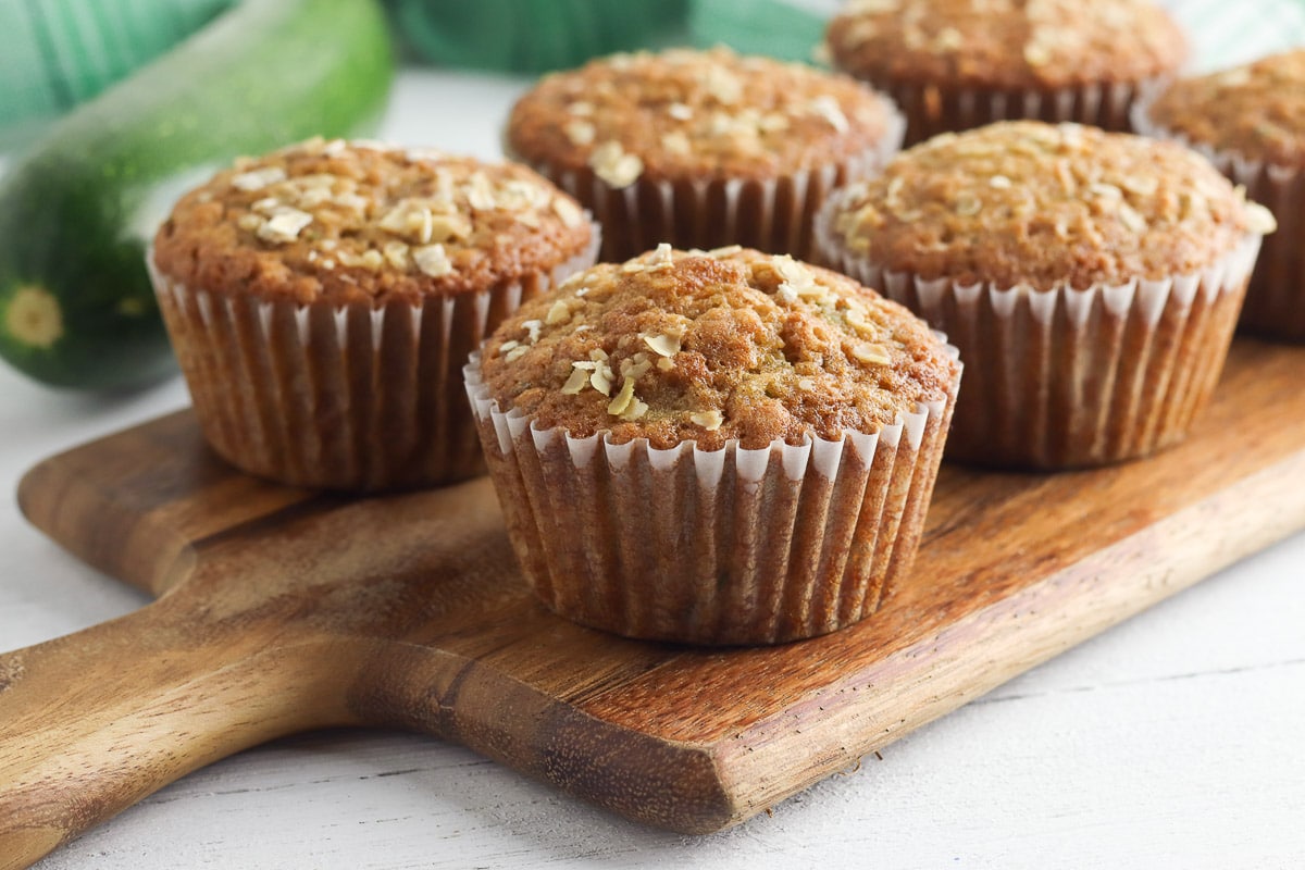
[[[1305,342],[1305,48],[1176,82],[1133,119],[1139,133],[1195,147],[1274,213],[1241,326]]]

